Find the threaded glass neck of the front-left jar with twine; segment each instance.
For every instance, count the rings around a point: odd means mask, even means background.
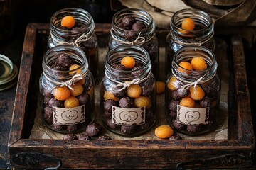
[[[80,67],[67,71],[59,71],[51,68],[53,64],[58,63],[58,57],[62,54],[69,55],[73,63],[78,64]],[[76,81],[84,79],[88,72],[88,62],[85,52],[71,45],[58,45],[50,48],[43,56],[42,67],[43,76],[47,79],[51,89],[55,89],[58,86],[70,87]]]

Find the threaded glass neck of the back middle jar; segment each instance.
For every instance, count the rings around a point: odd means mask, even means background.
[[[124,16],[132,16],[136,21],[144,23],[146,28],[142,30],[125,30],[120,27]],[[152,16],[146,11],[129,8],[118,11],[112,19],[111,35],[114,40],[124,44],[142,45],[148,42],[155,35],[156,24]]]

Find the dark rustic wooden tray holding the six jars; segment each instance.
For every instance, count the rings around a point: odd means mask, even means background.
[[[110,24],[96,24],[105,47]],[[38,103],[38,78],[46,52],[49,24],[30,23],[26,29],[9,137],[14,168],[63,169],[213,169],[252,166],[255,139],[247,89],[242,39],[230,38],[228,140],[42,140],[29,139]],[[158,30],[164,45],[167,30]]]

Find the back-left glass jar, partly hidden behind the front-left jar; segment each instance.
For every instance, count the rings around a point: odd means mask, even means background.
[[[75,26],[67,28],[61,26],[65,16],[75,18]],[[57,11],[50,18],[50,37],[48,47],[56,45],[74,45],[80,47],[87,57],[90,72],[95,79],[98,76],[98,42],[95,34],[95,23],[92,16],[81,8],[64,8]]]

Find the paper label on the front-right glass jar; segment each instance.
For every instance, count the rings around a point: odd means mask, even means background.
[[[187,108],[177,105],[177,120],[185,125],[207,125],[209,108]]]

